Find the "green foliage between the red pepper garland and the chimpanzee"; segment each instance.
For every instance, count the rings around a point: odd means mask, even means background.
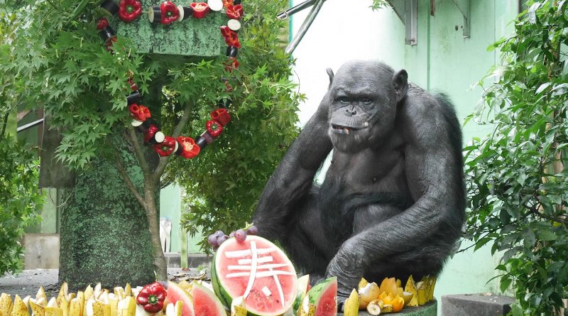
[[[192,234],[222,229],[234,231],[249,221],[266,181],[297,136],[297,106],[303,97],[294,92],[290,56],[284,53],[285,21],[275,18],[288,1],[243,1],[245,17],[239,31],[243,48],[235,73],[232,121],[224,136],[197,159],[175,160],[170,175],[178,173],[190,203],[182,222]],[[199,131],[207,111],[196,114],[190,129]],[[179,174],[177,170],[186,170]],[[206,239],[202,249],[209,251]]]

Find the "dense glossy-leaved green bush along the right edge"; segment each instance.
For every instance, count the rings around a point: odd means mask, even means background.
[[[567,1],[531,1],[515,34],[490,46],[503,65],[469,117],[494,129],[464,149],[468,236],[502,255],[496,270],[501,290],[515,291],[513,315],[551,315],[568,297],[567,16]]]

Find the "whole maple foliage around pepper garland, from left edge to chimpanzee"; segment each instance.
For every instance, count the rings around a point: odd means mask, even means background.
[[[114,54],[109,54],[95,27],[99,3],[22,0],[20,9],[6,9],[16,17],[11,22],[15,36],[2,46],[9,60],[0,70],[10,80],[14,102],[45,109],[52,126],[64,135],[58,159],[81,170],[93,158],[113,158],[111,135],[129,128],[124,94],[130,73],[143,96],[155,100],[145,105],[161,116],[167,135],[187,112],[189,124],[181,134],[197,138],[217,100],[232,99],[232,120],[222,136],[197,158],[169,159],[163,182],[179,182],[191,197],[191,212],[184,217],[190,233],[197,233],[197,227],[205,234],[243,226],[297,135],[295,111],[302,95],[293,91],[293,60],[283,53],[278,37],[286,22],[274,16],[288,1],[244,1],[241,66],[234,73],[224,70],[225,56],[200,60],[141,54],[128,38],[118,38]],[[229,78],[232,92],[225,90],[222,77]],[[141,204],[150,201],[143,199]]]

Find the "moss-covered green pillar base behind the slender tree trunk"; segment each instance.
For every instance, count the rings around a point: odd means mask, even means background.
[[[127,173],[143,187],[133,154],[122,151]],[[59,280],[72,288],[144,285],[154,280],[146,211],[124,185],[114,162],[98,159],[66,189],[61,213]]]

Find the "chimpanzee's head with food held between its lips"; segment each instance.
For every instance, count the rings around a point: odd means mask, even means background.
[[[396,107],[408,89],[405,70],[381,62],[351,61],[329,74],[329,136],[338,151],[379,145],[391,133]]]

